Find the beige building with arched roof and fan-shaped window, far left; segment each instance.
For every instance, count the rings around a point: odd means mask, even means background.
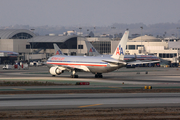
[[[1,64],[24,59],[25,54],[29,53],[29,50],[26,49],[27,40],[34,36],[35,34],[30,30],[0,29]],[[18,57],[10,54],[14,52],[19,53]]]

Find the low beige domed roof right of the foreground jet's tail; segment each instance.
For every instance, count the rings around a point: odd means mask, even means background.
[[[144,35],[144,36],[140,36],[137,38],[134,38],[130,41],[143,41],[143,42],[161,42],[162,40],[160,40],[159,38],[153,37],[153,36],[148,36],[148,35]],[[130,42],[129,41],[129,42]]]

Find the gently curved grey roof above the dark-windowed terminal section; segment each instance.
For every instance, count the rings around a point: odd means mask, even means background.
[[[65,42],[66,40],[74,37],[77,36],[36,36],[34,38],[29,39],[28,42]]]

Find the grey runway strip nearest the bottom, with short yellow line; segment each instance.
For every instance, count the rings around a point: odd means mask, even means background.
[[[179,93],[0,95],[0,110],[177,107],[179,104]]]

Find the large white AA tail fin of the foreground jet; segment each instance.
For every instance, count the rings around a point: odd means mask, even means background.
[[[117,60],[124,60],[128,35],[129,35],[129,31],[127,30],[125,31],[123,37],[121,38],[121,41],[119,42],[117,48],[115,49],[114,54],[111,56],[112,58]]]

